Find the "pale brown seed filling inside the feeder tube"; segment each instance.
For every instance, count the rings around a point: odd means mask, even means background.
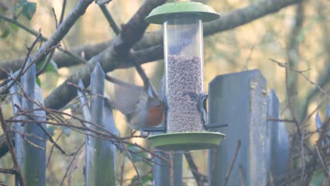
[[[199,57],[172,55],[168,58],[168,132],[203,131],[198,97],[202,93],[202,61]]]

